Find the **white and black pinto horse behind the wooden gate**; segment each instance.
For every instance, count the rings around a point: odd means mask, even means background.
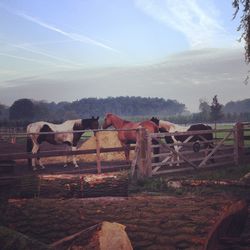
[[[188,132],[188,131],[209,131],[210,133],[202,133],[201,134],[195,134],[195,135],[172,135],[172,136],[165,136],[166,143],[178,143],[178,142],[193,142],[193,151],[198,152],[200,150],[200,143],[204,145],[206,149],[206,155],[209,152],[209,149],[213,148],[213,132],[212,127],[209,125],[205,125],[202,123],[199,124],[193,124],[188,127],[180,126],[168,121],[159,120],[156,117],[152,117],[151,121],[153,121],[156,125],[159,126],[160,132],[169,132],[169,133],[175,133],[175,132]],[[174,149],[176,152],[179,152],[181,146],[175,145]],[[172,161],[174,158],[172,157]],[[177,162],[179,161],[179,156],[177,154]],[[212,159],[213,161],[213,159]],[[177,163],[177,165],[179,165]]]

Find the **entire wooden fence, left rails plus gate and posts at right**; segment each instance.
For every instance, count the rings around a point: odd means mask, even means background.
[[[1,161],[31,159],[36,157],[55,157],[68,155],[96,154],[97,173],[102,172],[101,153],[121,152],[122,147],[103,148],[100,146],[99,133],[102,130],[96,130],[95,149],[85,149],[77,151],[54,150],[44,151],[37,154],[26,152],[0,153]],[[105,130],[107,131],[107,130]],[[114,131],[114,130],[112,130]],[[77,131],[79,132],[79,131]],[[164,140],[165,136],[185,135],[188,138],[199,135],[203,137],[206,133],[211,133],[213,140],[199,141],[200,150],[194,152],[194,142],[190,139],[184,142],[167,144]],[[53,133],[53,132],[50,132]],[[1,136],[1,133],[0,133]],[[9,133],[5,136],[15,136],[15,138],[26,138],[25,133]],[[152,140],[158,142],[157,145],[152,144]],[[213,147],[207,151],[205,145],[212,143]],[[180,148],[179,152],[174,146]],[[153,151],[159,149],[157,154]],[[135,158],[132,160],[131,173],[135,179],[148,178],[155,175],[179,172],[189,169],[201,169],[209,167],[217,167],[222,165],[238,165],[250,159],[250,123],[237,123],[232,129],[217,129],[210,131],[189,131],[180,133],[155,133],[149,134],[144,128],[137,129],[137,145],[131,147],[135,149]],[[158,159],[158,161],[156,161]]]

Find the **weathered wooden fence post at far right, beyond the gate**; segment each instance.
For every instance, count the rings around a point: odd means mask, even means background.
[[[234,162],[239,165],[244,156],[244,125],[237,122],[234,126]]]

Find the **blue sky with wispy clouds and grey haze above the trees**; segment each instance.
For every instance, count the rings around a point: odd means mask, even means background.
[[[0,0],[0,103],[249,98],[231,0]],[[240,16],[240,15],[239,15]]]

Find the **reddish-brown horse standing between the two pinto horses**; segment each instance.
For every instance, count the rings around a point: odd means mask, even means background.
[[[143,122],[131,122],[126,121],[120,118],[117,115],[107,113],[104,118],[104,123],[102,127],[104,129],[113,126],[115,129],[124,129],[118,131],[118,138],[124,147],[126,160],[129,161],[129,148],[130,144],[136,143],[137,133],[136,129],[139,127],[145,128],[149,133],[158,133],[159,127],[152,121],[143,121]],[[153,144],[158,144],[157,141],[153,140]],[[157,154],[159,151],[158,148],[154,148],[154,153]],[[156,159],[157,160],[157,159]]]

